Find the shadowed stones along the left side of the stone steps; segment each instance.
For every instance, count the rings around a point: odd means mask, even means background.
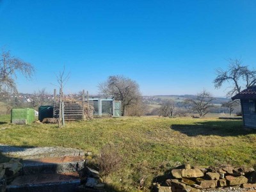
[[[5,191],[6,183],[19,176],[22,164],[20,159],[11,159],[8,163],[0,163],[0,192]]]

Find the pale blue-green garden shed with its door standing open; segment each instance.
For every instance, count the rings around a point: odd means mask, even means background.
[[[90,95],[93,101],[93,116],[121,116],[121,102],[113,95]]]

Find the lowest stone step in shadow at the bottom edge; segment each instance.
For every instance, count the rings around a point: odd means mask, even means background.
[[[78,173],[54,173],[19,176],[6,187],[6,192],[66,192],[76,191],[80,184]]]

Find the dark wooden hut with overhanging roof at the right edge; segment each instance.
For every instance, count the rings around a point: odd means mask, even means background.
[[[250,86],[238,93],[232,100],[240,99],[244,127],[256,129],[256,86]]]

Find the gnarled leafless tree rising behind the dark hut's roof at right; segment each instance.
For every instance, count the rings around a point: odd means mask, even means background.
[[[243,65],[241,60],[229,59],[227,70],[221,68],[216,70],[217,77],[213,83],[215,88],[220,88],[224,83],[229,83],[231,90],[228,91],[227,97],[232,97],[236,93],[240,93],[244,88],[256,84],[256,70]]]

